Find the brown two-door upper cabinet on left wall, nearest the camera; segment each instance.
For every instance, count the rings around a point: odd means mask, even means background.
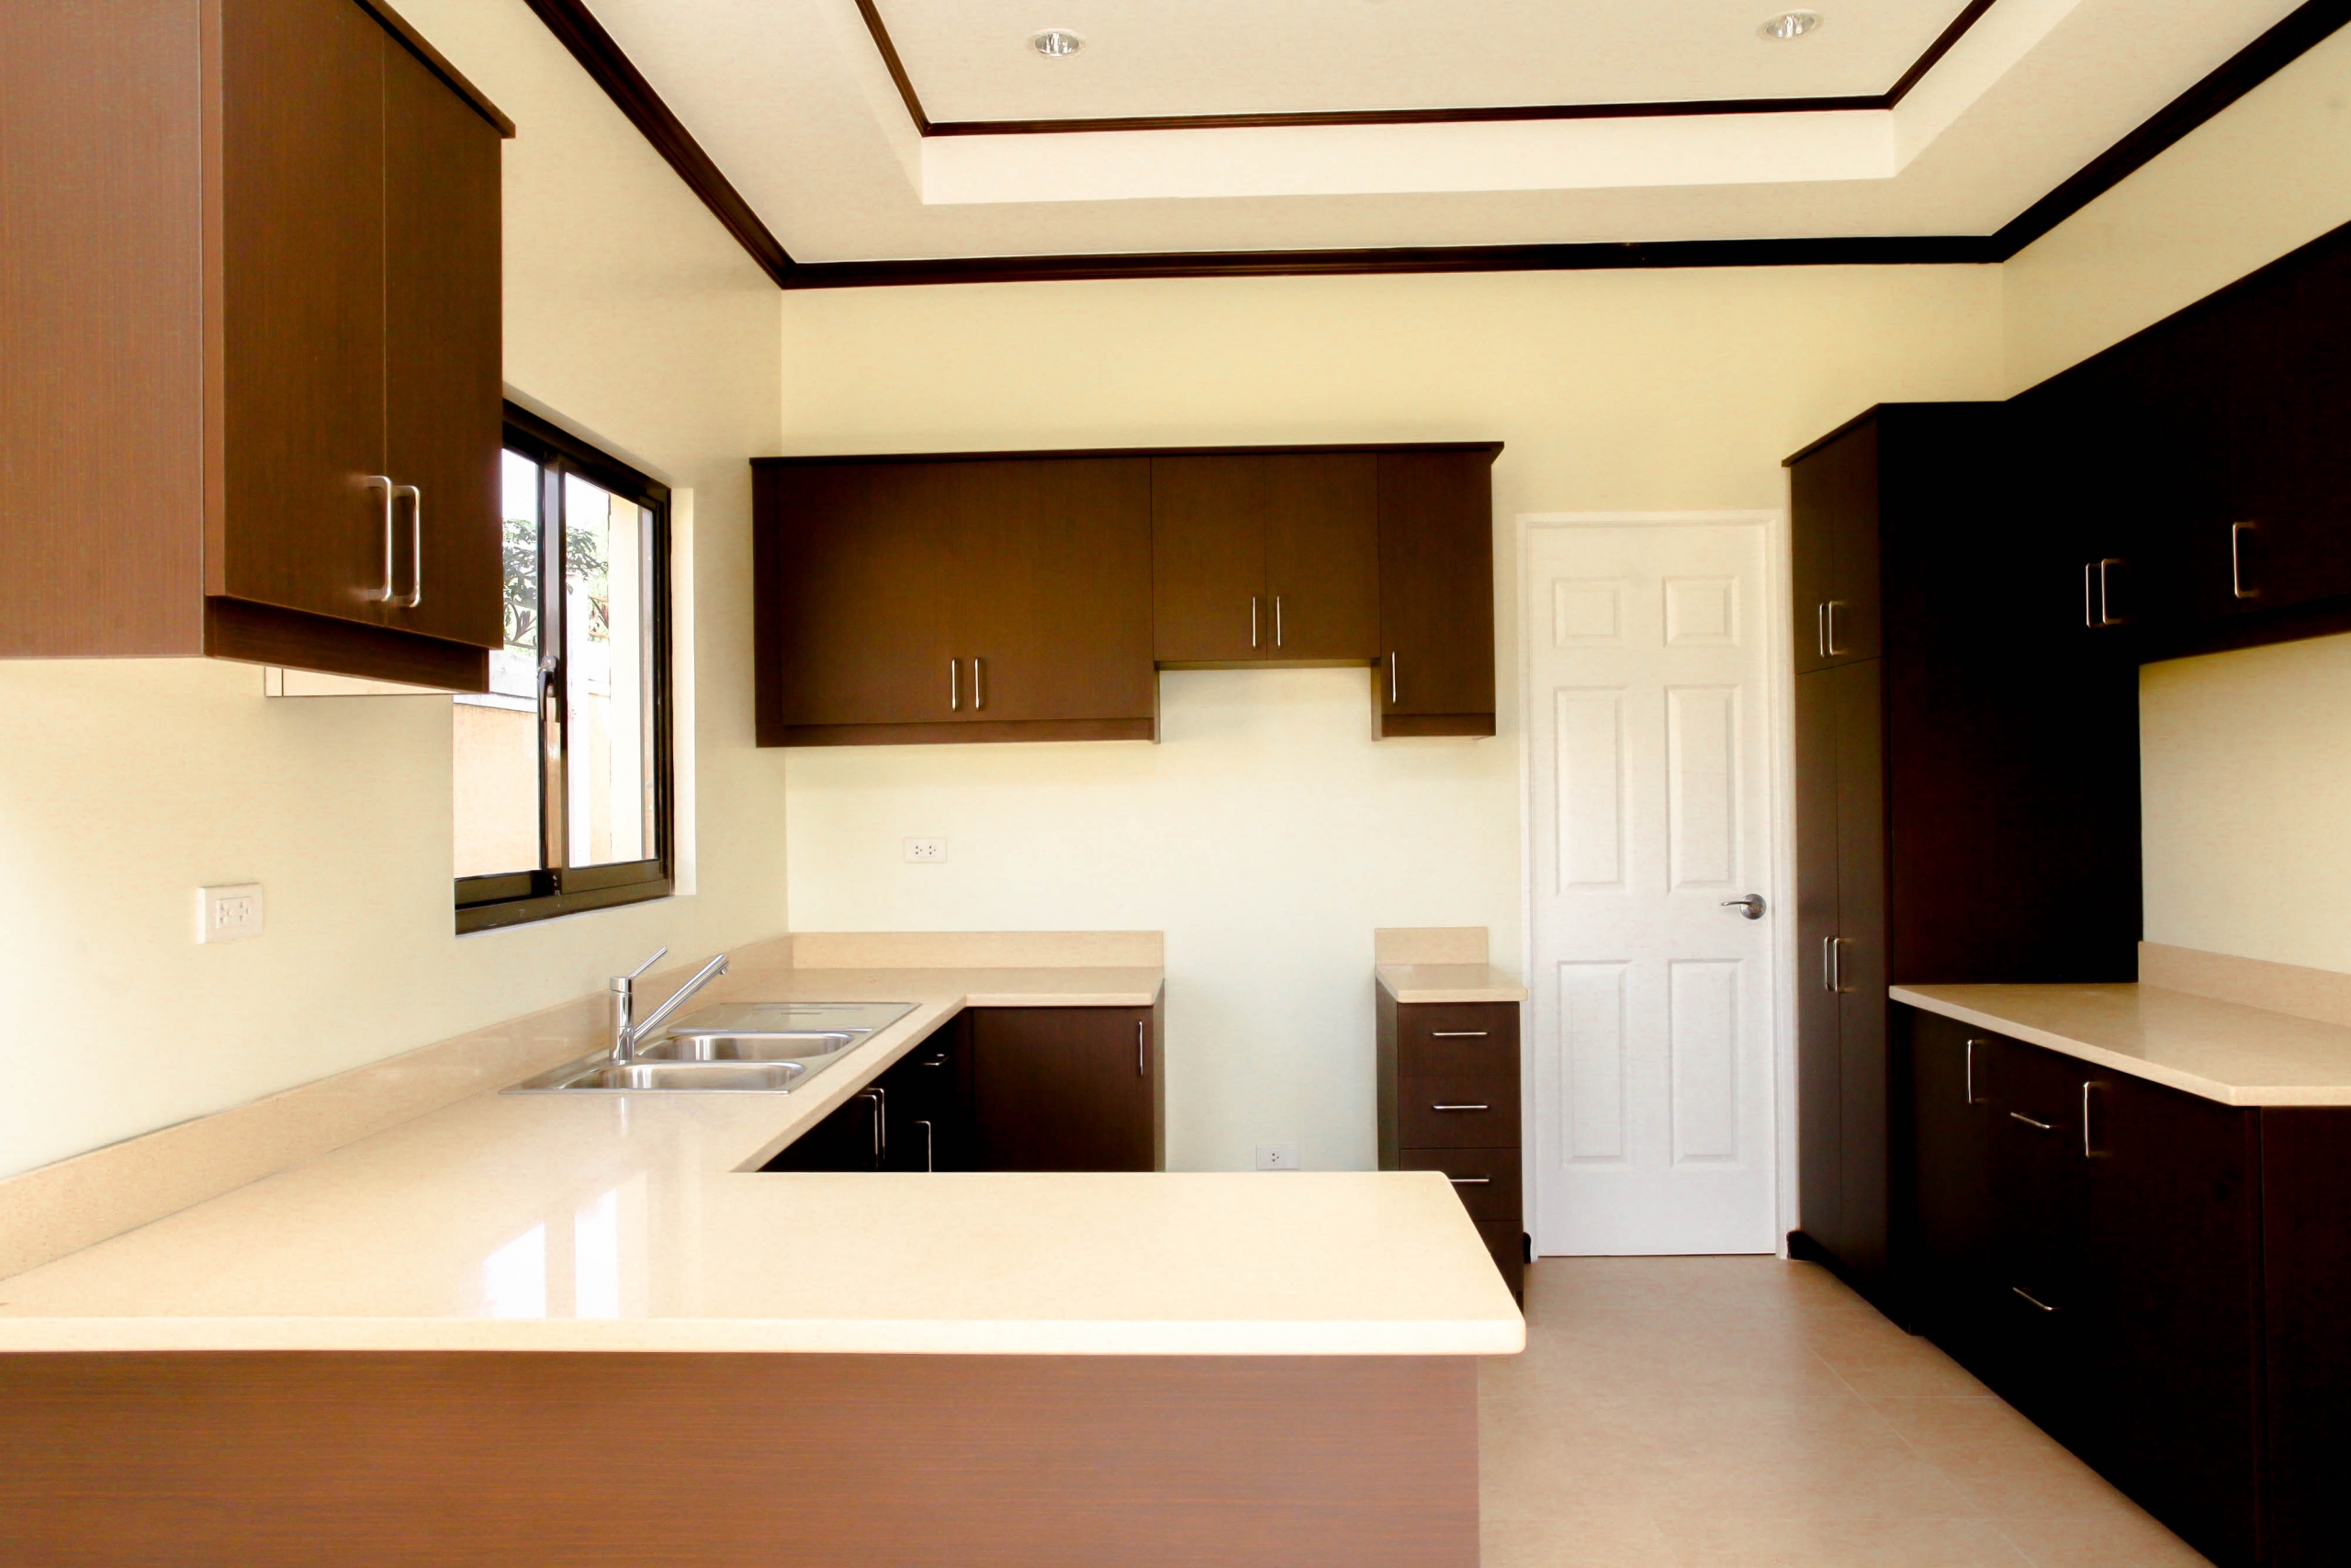
[[[482,689],[503,644],[498,141],[381,5],[12,31],[0,654]]]

